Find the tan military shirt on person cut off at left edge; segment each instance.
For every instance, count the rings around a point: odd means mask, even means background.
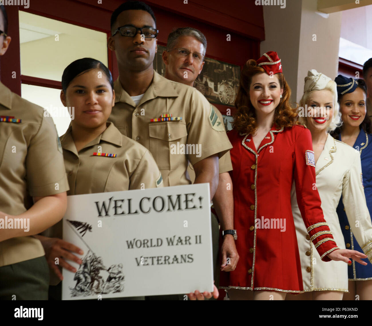
[[[44,117],[41,107],[12,93],[2,83],[0,116],[3,120],[15,119],[0,121],[0,211],[19,215],[33,205],[32,197],[68,190],[62,148],[52,118]],[[0,242],[0,266],[44,254],[40,241],[33,237]]]

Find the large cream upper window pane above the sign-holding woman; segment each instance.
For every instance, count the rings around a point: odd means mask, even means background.
[[[107,64],[107,34],[19,10],[21,74],[61,81],[72,61]]]

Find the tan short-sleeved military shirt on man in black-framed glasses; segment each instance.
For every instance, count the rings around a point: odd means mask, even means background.
[[[164,186],[190,184],[188,161],[195,164],[232,146],[222,121],[195,88],[173,82],[154,72],[153,82],[136,106],[118,80],[115,107],[109,121],[120,132],[150,150],[163,175]],[[182,120],[151,122],[163,114]]]

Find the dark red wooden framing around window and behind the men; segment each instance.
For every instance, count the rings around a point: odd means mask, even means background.
[[[152,0],[147,2],[151,1]],[[259,57],[259,41],[264,39],[262,12],[259,12],[259,18],[255,18],[257,20],[253,24],[255,27],[252,25],[253,27],[250,32],[241,32],[247,31],[247,29],[241,27],[241,24],[244,25],[245,23],[241,21],[235,22],[231,17],[228,17],[228,15],[225,15],[224,13],[219,13],[221,19],[226,19],[224,20],[224,24],[222,24],[224,29],[218,29],[215,27],[218,26],[216,23],[212,23],[207,19],[201,19],[199,17],[202,15],[201,12],[198,14],[195,13],[194,17],[190,16],[193,12],[192,10],[190,11],[190,9],[192,9],[191,6],[187,7],[187,15],[182,13],[182,15],[185,16],[180,16],[179,9],[179,15],[177,16],[174,15],[175,11],[177,13],[177,6],[172,4],[171,8],[168,8],[169,11],[166,11],[164,10],[164,1],[162,0],[161,4],[150,3],[155,15],[158,17],[158,26],[161,26],[160,30],[164,31],[158,38],[158,44],[166,45],[166,36],[167,33],[170,32],[171,28],[178,24],[183,24],[202,29],[203,32],[206,33],[206,37],[210,40],[208,42],[206,53],[207,57],[224,61],[226,63],[237,64],[240,67],[243,66],[248,58]],[[96,1],[94,1],[94,4],[89,4],[87,3],[87,0],[58,0],[53,1],[52,5],[50,5],[49,2],[49,5],[46,6],[45,1],[43,0],[33,0],[32,6],[28,9],[25,9],[22,6],[7,6],[8,21],[10,22],[8,34],[12,37],[12,42],[7,53],[1,57],[0,60],[1,81],[13,92],[19,95],[21,94],[22,83],[61,89],[61,82],[21,75],[18,10],[105,32],[107,38],[109,38],[109,21],[112,10],[121,3],[121,0],[112,0],[109,3],[105,2],[104,5],[98,5]],[[198,4],[193,4],[191,1],[190,4],[198,6]],[[254,10],[257,10],[257,7],[253,7]],[[201,10],[204,10],[204,12],[211,12],[211,9],[208,9],[207,7],[201,8]],[[218,12],[214,12],[213,15],[213,17],[217,17]],[[190,16],[190,18],[187,16]],[[92,19],[92,17],[99,17],[99,19]],[[192,18],[198,20],[192,20]],[[179,23],[177,22],[177,19],[180,21]],[[260,20],[262,20],[262,22],[260,22]],[[94,23],[94,25],[92,25],[92,23]],[[252,30],[254,32],[252,32]],[[226,40],[226,33],[231,33],[231,42],[224,45],[223,42]],[[256,37],[253,37],[252,35],[256,35]],[[253,38],[256,40],[253,40]],[[108,68],[112,72],[114,79],[116,79],[119,75],[116,56],[109,49]],[[14,72],[16,75],[15,78],[13,77]],[[216,105],[216,107],[222,113],[226,113],[227,107],[225,105]],[[232,111],[234,111],[234,108],[232,108]]]

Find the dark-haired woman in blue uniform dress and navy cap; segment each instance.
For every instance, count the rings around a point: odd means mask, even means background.
[[[342,75],[337,76],[334,81],[337,83],[343,124],[332,136],[359,151],[362,162],[360,182],[364,186],[369,214],[372,215],[372,122],[366,115],[366,84],[363,79],[347,78]],[[358,244],[354,238],[352,230],[359,226],[349,225],[342,198],[337,207],[337,214],[346,248],[372,251],[372,241]],[[368,262],[368,259],[363,260]],[[356,295],[359,295],[359,300],[372,300],[372,265],[364,266],[352,260],[348,272],[349,293],[344,294],[343,300],[355,300]]]

